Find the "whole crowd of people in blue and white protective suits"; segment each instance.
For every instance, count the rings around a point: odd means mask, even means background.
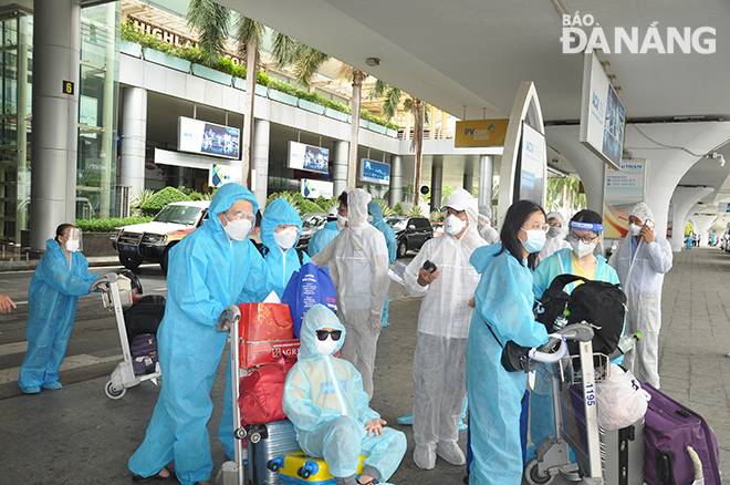
[[[323,306],[305,314],[284,411],[302,450],[323,457],[337,484],[377,484],[397,469],[405,435],[385,427],[369,407],[377,392],[377,341],[388,324],[395,234],[365,190],[343,194],[338,202],[312,237],[309,255],[296,249],[302,231],[296,210],[284,199],[270,203],[261,220],[263,247],[257,248],[249,239],[255,198],[227,184],[213,196],[205,224],[171,249],[167,306],[157,334],[163,386],[144,441],[128,462],[135,482],[174,473],[184,485],[209,483],[213,464],[206,424],[227,339],[219,330],[239,303],[262,301],[272,291],[281,297],[292,274],[309,261],[332,276],[337,314]],[[659,388],[660,297],[671,249],[655,234],[645,204],[629,213],[628,234],[609,260],[595,254],[603,220],[592,210],[566,223],[559,213],[545,214],[520,200],[507,211],[499,233],[491,226],[490,208],[478,207],[465,189],[451,193],[442,210],[444,235],[423,246],[403,278],[406,291],[421,298],[413,360],[413,461],[423,469],[434,468],[437,457],[457,466],[467,462],[458,431],[468,402],[470,483],[518,484],[526,446],[520,415],[528,374],[503,368],[502,348],[509,341],[523,347],[548,341],[533,305],[556,276],[618,283],[628,300],[625,333],[643,336],[623,365]],[[27,393],[61,389],[58,370],[77,298],[103,285],[79,252],[80,231],[62,225],[56,233],[31,282],[29,351],[19,380]],[[0,299],[0,311],[11,305]],[[227,385],[219,438],[232,457],[230,394]],[[532,398],[535,444],[554,427],[549,405]],[[368,457],[357,478],[361,454]],[[174,472],[168,468],[173,461]]]

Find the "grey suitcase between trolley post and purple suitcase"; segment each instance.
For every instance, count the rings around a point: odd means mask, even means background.
[[[644,484],[644,417],[620,430],[601,433],[601,468],[604,483]]]

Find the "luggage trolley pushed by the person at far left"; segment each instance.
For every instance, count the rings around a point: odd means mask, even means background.
[[[128,270],[122,270],[118,275],[112,274],[111,277],[112,281],[103,289],[103,301],[104,307],[114,311],[124,361],[119,362],[112,372],[109,381],[104,385],[104,392],[107,398],[116,400],[124,396],[127,388],[133,388],[140,382],[152,381],[153,384],[157,385],[160,382],[161,372],[159,370],[159,363],[156,363],[154,372],[143,375],[135,374],[124,309],[125,307],[129,307],[137,295],[142,292],[142,283]],[[159,322],[157,323],[159,324]]]

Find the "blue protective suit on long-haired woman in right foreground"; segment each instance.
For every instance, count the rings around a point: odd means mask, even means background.
[[[523,347],[548,341],[545,327],[532,313],[532,270],[507,250],[496,256],[501,249],[500,244],[482,246],[469,259],[481,275],[467,345],[472,485],[521,483],[520,412],[528,374],[504,370],[502,345],[510,340]]]

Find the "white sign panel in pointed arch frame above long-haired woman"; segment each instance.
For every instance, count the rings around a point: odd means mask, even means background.
[[[520,146],[520,176],[518,190],[519,200],[532,200],[544,204],[545,169],[548,158],[545,152],[545,135],[526,123],[522,123],[522,143]],[[517,182],[517,180],[515,180]]]

